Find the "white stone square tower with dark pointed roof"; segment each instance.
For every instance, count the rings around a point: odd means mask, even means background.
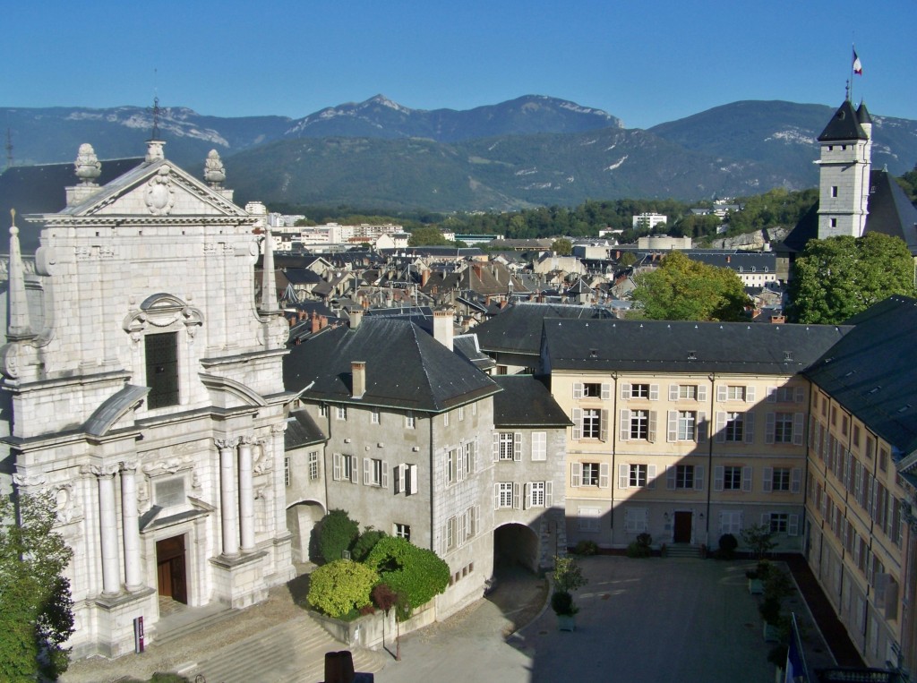
[[[822,148],[818,237],[862,237],[866,229],[872,119],[866,105],[849,99],[837,108],[818,137]]]

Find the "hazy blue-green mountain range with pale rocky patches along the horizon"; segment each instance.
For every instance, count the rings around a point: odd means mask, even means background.
[[[166,156],[203,169],[226,163],[240,203],[348,204],[374,209],[512,210],[586,199],[745,196],[818,182],[816,138],[834,108],[735,102],[627,129],[600,109],[526,95],[466,111],[418,110],[376,95],[300,119],[223,118],[167,107]],[[917,121],[872,114],[873,164],[917,161]],[[136,157],[150,109],[0,108],[16,165],[72,161],[83,142],[100,159]]]

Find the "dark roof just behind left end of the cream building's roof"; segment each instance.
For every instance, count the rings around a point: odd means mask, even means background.
[[[541,348],[542,321],[547,318],[611,317],[607,311],[561,303],[514,303],[474,328],[485,351],[514,351],[537,356]]]

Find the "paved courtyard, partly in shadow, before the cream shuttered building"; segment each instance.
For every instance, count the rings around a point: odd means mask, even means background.
[[[505,641],[507,614],[482,600],[452,620],[405,637],[403,661],[385,666],[376,679],[774,680],[770,645],[762,637],[757,600],[747,593],[743,563],[601,556],[581,564],[590,583],[576,594],[580,613],[575,633],[559,632],[548,609]],[[496,600],[502,588],[498,586]]]

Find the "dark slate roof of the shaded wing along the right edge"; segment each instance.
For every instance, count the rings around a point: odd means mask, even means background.
[[[917,450],[917,300],[891,296],[848,322],[804,374],[907,456]]]

